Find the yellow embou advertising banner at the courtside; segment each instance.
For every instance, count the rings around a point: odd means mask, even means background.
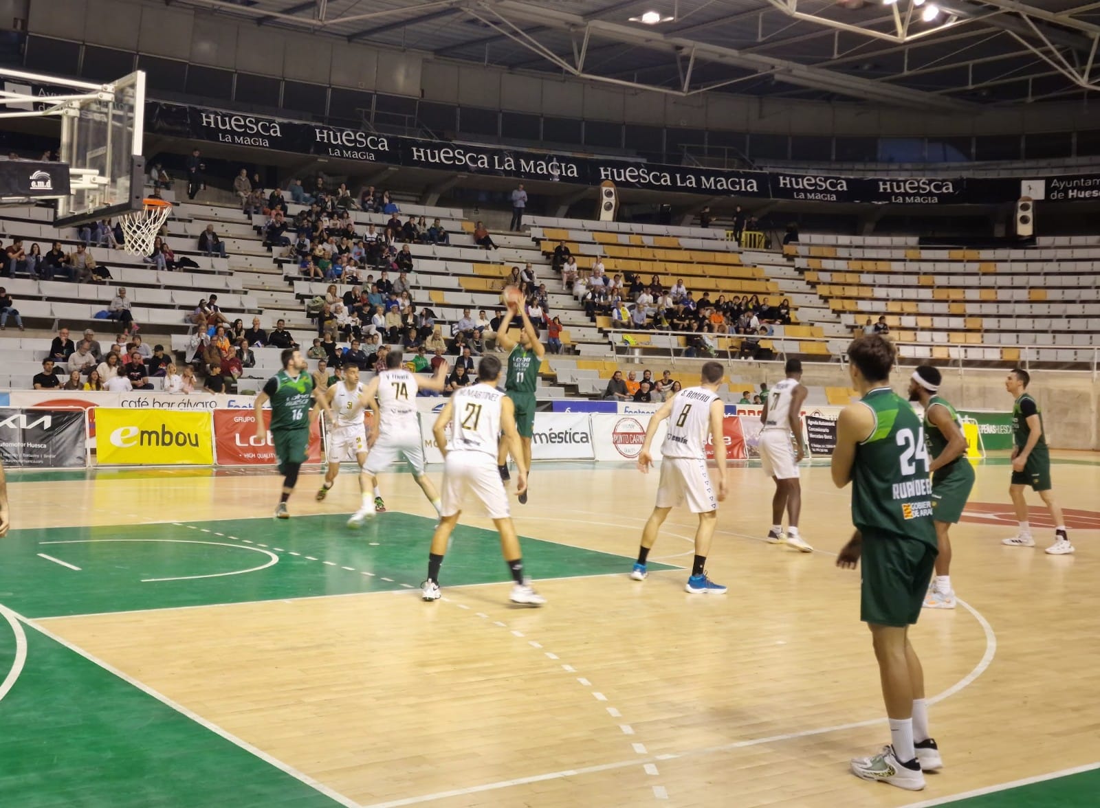
[[[107,407],[97,408],[95,412],[99,464],[213,464],[213,429],[209,412]]]

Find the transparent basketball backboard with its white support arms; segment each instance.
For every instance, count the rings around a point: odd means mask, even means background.
[[[61,119],[61,162],[69,193],[57,197],[58,228],[141,210],[145,163],[145,74],[87,81],[0,69],[0,119]]]

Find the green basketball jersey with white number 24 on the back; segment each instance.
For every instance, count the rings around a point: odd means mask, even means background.
[[[932,480],[921,419],[889,387],[870,390],[860,401],[875,413],[875,431],[856,446],[853,523],[865,533],[935,545]]]

